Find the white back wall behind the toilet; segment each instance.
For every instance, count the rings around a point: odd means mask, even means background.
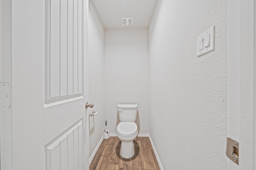
[[[105,29],[105,117],[110,133],[117,104],[138,104],[139,133],[148,133],[148,29]]]

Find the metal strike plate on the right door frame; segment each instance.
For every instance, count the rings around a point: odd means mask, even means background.
[[[226,155],[239,165],[239,143],[227,137]]]

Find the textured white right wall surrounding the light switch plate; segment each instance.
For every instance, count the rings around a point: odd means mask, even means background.
[[[225,170],[228,2],[159,0],[149,27],[150,136],[164,169]],[[215,51],[196,57],[215,25]]]

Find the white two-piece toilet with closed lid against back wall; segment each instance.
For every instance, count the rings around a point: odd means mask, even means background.
[[[116,133],[121,141],[120,154],[123,158],[130,158],[134,155],[133,140],[138,135],[135,123],[138,105],[118,104],[117,107],[120,123],[117,125]]]

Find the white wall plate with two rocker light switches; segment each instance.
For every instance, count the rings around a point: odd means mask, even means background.
[[[200,50],[200,41],[204,39],[203,49]],[[197,37],[197,56],[203,55],[205,53],[209,53],[214,50],[215,44],[215,26],[212,26],[210,29],[202,33]]]

